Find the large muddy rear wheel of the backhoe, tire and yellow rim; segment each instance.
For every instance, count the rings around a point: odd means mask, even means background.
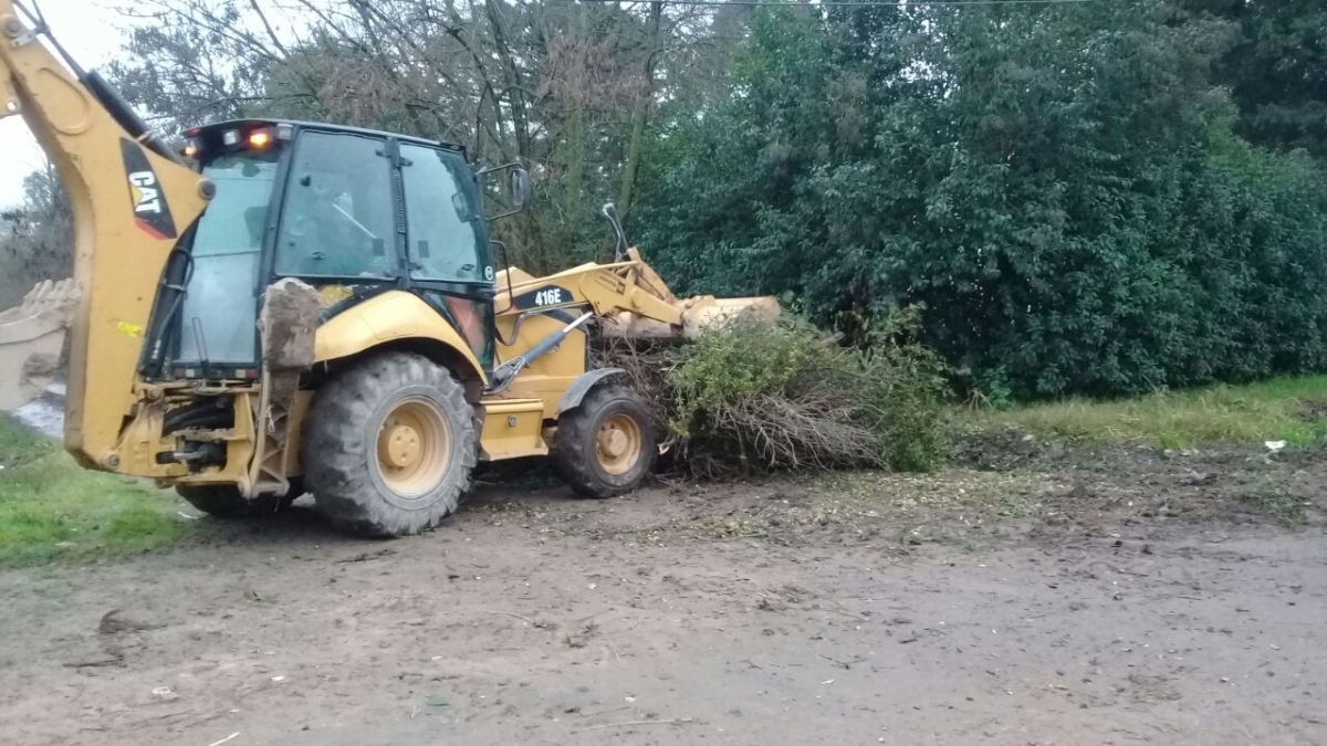
[[[475,441],[474,408],[446,368],[382,353],[314,396],[304,438],[309,491],[341,528],[418,534],[460,504]]]

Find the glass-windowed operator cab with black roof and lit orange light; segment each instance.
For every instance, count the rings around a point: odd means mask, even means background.
[[[157,377],[256,378],[259,304],[280,277],[317,287],[324,320],[389,289],[414,292],[491,366],[494,265],[463,147],[269,119],[187,138],[182,154],[215,196]]]

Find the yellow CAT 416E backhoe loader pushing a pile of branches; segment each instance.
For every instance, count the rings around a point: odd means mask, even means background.
[[[495,269],[484,186],[519,208],[528,175],[475,171],[455,145],[244,119],[176,150],[17,0],[0,0],[0,114],[27,121],[73,208],[65,447],[214,515],[308,490],[337,524],[413,534],[478,461],[549,453],[581,495],[629,491],[654,426],[617,370],[591,369],[589,335],[778,309],[679,301],[612,210],[614,261]],[[11,336],[0,354],[25,354]]]

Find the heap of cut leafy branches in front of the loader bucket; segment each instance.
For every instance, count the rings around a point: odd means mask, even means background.
[[[851,348],[787,317],[706,331],[666,369],[670,429],[706,461],[929,469],[945,380],[938,357],[908,341],[917,319],[894,315]]]

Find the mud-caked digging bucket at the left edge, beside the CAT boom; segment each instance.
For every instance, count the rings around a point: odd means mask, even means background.
[[[78,295],[73,280],[45,280],[17,307],[0,312],[0,411],[37,398],[60,374]]]

